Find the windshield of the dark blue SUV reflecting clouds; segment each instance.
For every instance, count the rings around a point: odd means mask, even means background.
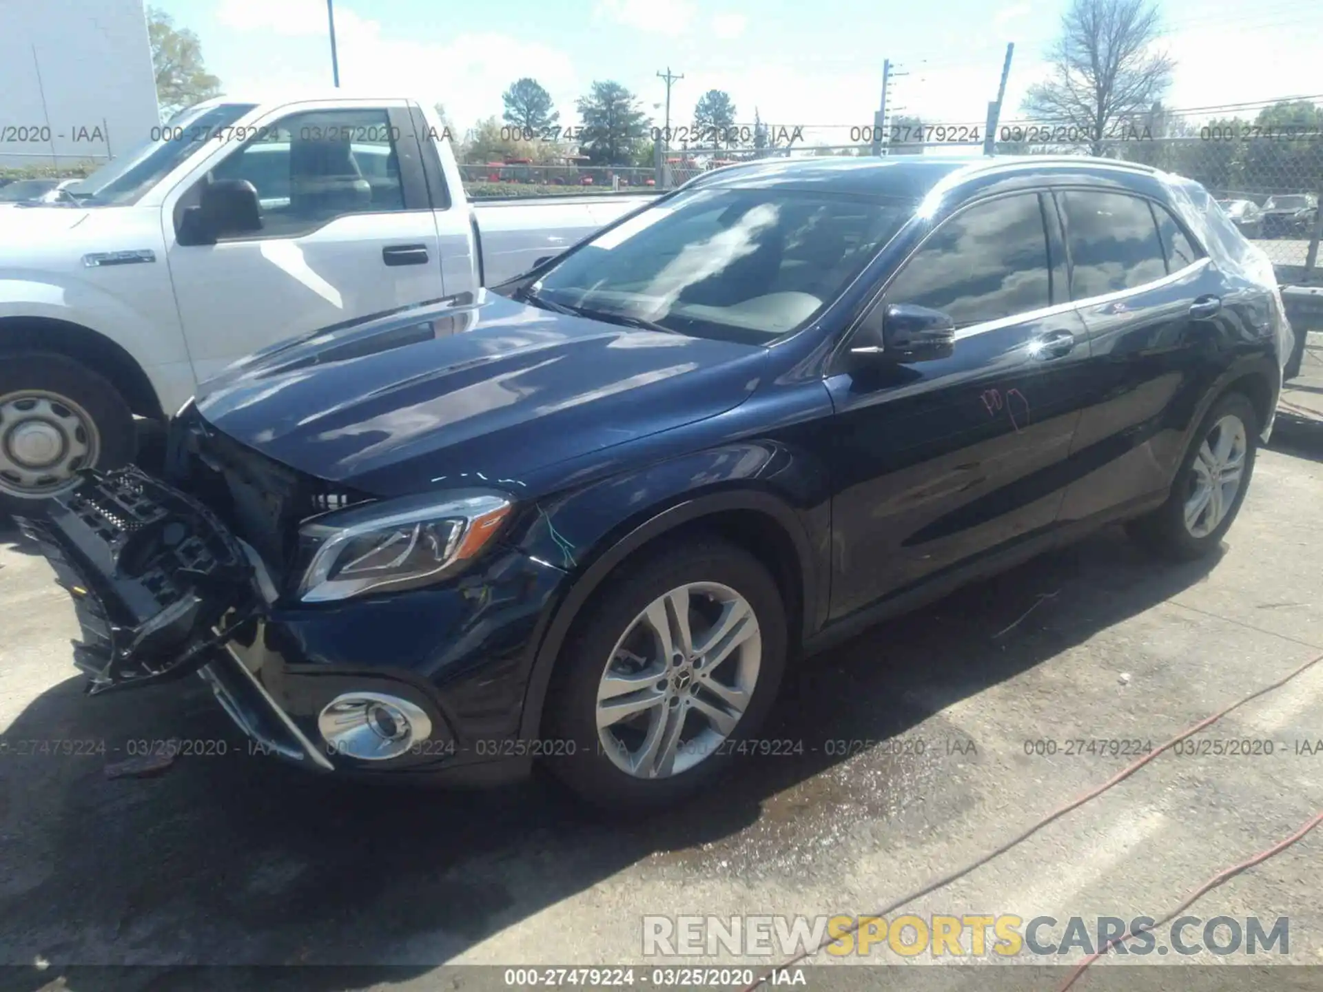
[[[816,317],[913,206],[785,189],[696,189],[602,233],[523,298],[761,344]]]

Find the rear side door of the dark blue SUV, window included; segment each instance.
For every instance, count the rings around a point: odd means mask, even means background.
[[[1189,417],[1217,376],[1217,341],[1236,320],[1222,279],[1162,204],[1115,189],[1054,193],[1070,294],[1089,332],[1088,403],[1062,522],[1163,492],[1184,455]]]

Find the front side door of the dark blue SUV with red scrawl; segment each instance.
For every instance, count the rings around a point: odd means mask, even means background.
[[[827,381],[833,619],[1054,524],[1089,345],[1049,210],[1028,192],[942,221],[876,307],[945,311],[954,353]]]

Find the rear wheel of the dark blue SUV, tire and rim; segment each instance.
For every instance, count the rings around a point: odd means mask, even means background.
[[[1213,403],[1162,507],[1126,525],[1136,544],[1174,561],[1209,554],[1236,521],[1254,474],[1258,415],[1242,393]]]

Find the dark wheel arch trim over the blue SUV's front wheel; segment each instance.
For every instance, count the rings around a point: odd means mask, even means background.
[[[816,624],[820,595],[818,569],[808,534],[794,509],[777,496],[757,489],[726,489],[681,501],[655,512],[642,522],[602,542],[602,550],[583,569],[557,603],[537,639],[537,648],[524,692],[520,735],[536,739],[542,722],[552,672],[561,647],[576,620],[583,615],[606,579],[636,553],[647,553],[663,541],[675,542],[700,533],[714,533],[740,545],[771,573],[786,600],[789,643],[795,651]]]

